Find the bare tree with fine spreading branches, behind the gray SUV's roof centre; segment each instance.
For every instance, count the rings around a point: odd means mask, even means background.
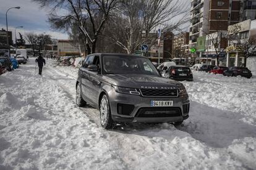
[[[155,44],[157,36],[152,32],[156,27],[161,27],[163,32],[178,30],[187,22],[184,17],[187,9],[176,0],[123,1],[109,21],[109,38],[127,53],[134,53],[143,43]],[[174,18],[175,22],[171,22]]]

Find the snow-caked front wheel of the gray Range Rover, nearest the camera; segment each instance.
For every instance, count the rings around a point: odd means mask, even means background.
[[[105,129],[113,129],[116,125],[111,117],[111,109],[106,94],[100,99],[100,124]]]

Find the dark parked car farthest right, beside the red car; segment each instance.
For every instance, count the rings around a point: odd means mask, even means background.
[[[223,72],[224,76],[242,76],[250,78],[252,76],[252,71],[247,67],[230,67],[228,70]]]

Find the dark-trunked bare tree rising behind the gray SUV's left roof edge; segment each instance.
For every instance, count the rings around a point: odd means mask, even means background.
[[[51,7],[49,20],[54,23],[69,22],[74,20],[79,30],[86,39],[88,54],[95,52],[96,41],[108,20],[111,10],[118,4],[118,0],[33,0],[41,6]],[[57,15],[59,9],[65,9],[67,15]],[[55,14],[54,14],[55,13]],[[53,24],[54,24],[53,23]],[[91,29],[91,33],[90,33]],[[90,44],[90,45],[89,45]]]

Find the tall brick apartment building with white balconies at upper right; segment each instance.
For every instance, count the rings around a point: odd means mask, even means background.
[[[197,38],[218,30],[228,30],[244,20],[255,20],[256,0],[192,0],[190,9],[190,47]]]

